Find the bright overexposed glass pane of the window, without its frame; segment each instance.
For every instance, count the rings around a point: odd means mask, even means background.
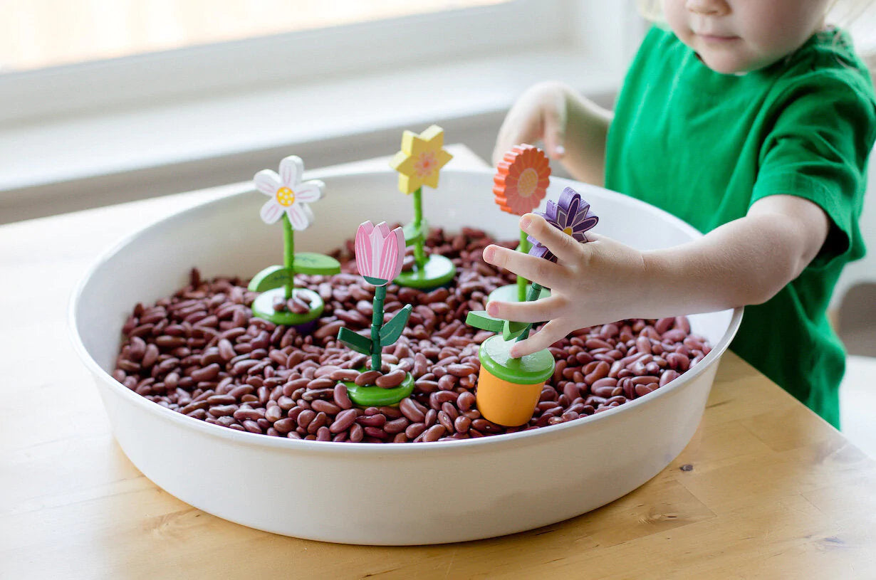
[[[511,0],[4,0],[0,72]]]

